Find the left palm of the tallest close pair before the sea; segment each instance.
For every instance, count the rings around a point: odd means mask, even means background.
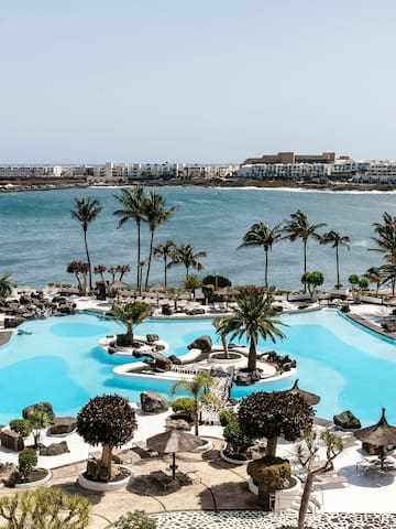
[[[121,190],[121,195],[113,195],[121,204],[122,209],[113,212],[114,215],[121,217],[118,228],[123,226],[128,220],[134,220],[138,229],[138,259],[136,259],[136,288],[140,288],[140,262],[141,262],[141,226],[144,222],[145,195],[144,186],[136,184],[132,190]]]

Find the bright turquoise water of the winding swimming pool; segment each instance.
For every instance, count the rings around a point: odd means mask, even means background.
[[[350,409],[363,424],[377,421],[386,408],[389,422],[396,423],[396,347],[389,339],[345,320],[336,311],[286,314],[282,320],[287,338],[261,343],[261,350],[276,348],[297,359],[299,386],[321,396],[317,414],[332,418]],[[32,334],[14,335],[0,347],[0,423],[20,417],[22,408],[40,400],[51,401],[58,415],[75,415],[96,395],[120,393],[131,401],[140,392],[154,389],[167,395],[170,384],[164,380],[121,381],[112,376],[117,360],[99,346],[107,334],[121,327],[102,316],[78,314],[25,323]],[[197,336],[209,334],[220,343],[209,320],[151,320],[136,334],[156,333],[170,344],[173,354],[186,352]],[[234,387],[240,398],[258,389],[286,389],[294,378],[279,382]]]

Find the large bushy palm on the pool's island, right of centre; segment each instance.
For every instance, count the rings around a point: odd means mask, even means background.
[[[248,370],[254,371],[258,335],[275,343],[276,338],[285,338],[284,333],[277,328],[277,325],[286,324],[273,317],[274,312],[271,305],[274,299],[263,289],[244,287],[235,295],[235,301],[237,306],[232,307],[233,314],[223,316],[220,322],[217,322],[217,333],[220,336],[231,333],[231,341],[246,335],[249,344]]]

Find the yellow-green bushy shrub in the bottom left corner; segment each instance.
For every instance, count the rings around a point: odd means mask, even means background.
[[[38,487],[0,498],[0,518],[10,529],[84,529],[89,510],[87,498],[61,487]]]

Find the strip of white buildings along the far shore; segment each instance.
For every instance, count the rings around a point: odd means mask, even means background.
[[[0,191],[89,185],[299,185],[315,187],[396,185],[396,161],[353,160],[334,152],[278,152],[240,164],[113,163],[103,165],[0,165]]]

